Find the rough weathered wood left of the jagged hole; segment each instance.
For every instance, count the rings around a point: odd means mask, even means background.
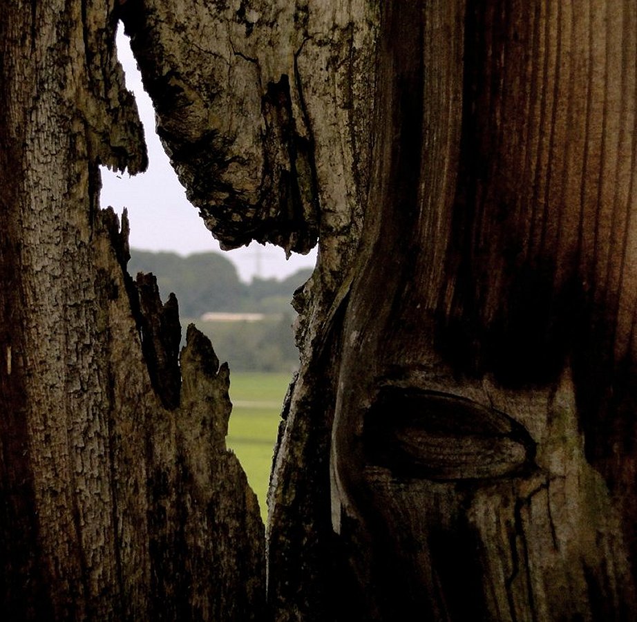
[[[146,166],[115,3],[0,8],[0,518],[10,619],[258,619],[227,366],[126,274],[98,164]],[[181,375],[181,377],[180,377]],[[214,560],[214,563],[211,563]]]

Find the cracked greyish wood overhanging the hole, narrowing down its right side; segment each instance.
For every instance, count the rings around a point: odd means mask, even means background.
[[[124,6],[160,137],[213,235],[301,252],[318,236],[316,270],[295,296],[301,370],[269,495],[279,620],[336,615],[325,318],[349,282],[373,171],[378,21],[363,0]]]

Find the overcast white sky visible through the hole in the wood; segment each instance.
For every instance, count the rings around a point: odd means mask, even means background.
[[[131,221],[131,247],[144,250],[165,250],[187,255],[200,251],[222,252],[238,268],[239,276],[250,281],[252,276],[281,279],[300,267],[313,267],[316,252],[292,254],[286,261],[283,249],[273,245],[252,243],[233,251],[223,252],[218,242],[198,216],[198,209],[186,199],[183,187],[171,168],[160,140],[155,134],[155,114],[151,100],[142,88],[142,78],[131,53],[127,37],[120,27],[117,33],[117,54],[126,72],[126,86],[135,93],[137,107],[146,132],[149,168],[131,177],[128,173],[113,173],[102,168],[102,207],[111,205],[118,214],[127,207]]]

